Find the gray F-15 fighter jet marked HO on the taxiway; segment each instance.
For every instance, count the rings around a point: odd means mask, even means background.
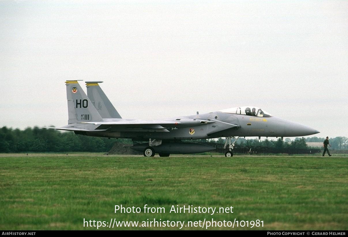
[[[295,137],[319,133],[319,131],[270,115],[253,106],[224,109],[161,120],[122,119],[101,90],[100,81],[86,82],[87,94],[77,80],[66,81],[68,100],[68,125],[53,129],[74,131],[75,134],[130,138],[148,141],[135,144],[134,150],[144,156],[169,156],[169,154],[193,154],[214,150],[212,146],[182,142],[182,140],[226,137],[225,156],[233,156],[231,137]]]

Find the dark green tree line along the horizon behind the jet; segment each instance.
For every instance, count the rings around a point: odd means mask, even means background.
[[[310,149],[306,142],[323,142],[323,137],[298,138],[294,140],[281,138],[276,140],[259,140],[239,138],[236,145],[240,147],[260,148],[268,147],[281,149]],[[200,140],[206,142],[206,140]],[[0,128],[0,153],[21,152],[108,152],[115,142],[132,144],[130,139],[115,139],[76,135],[73,132],[61,132],[46,128],[26,128],[24,130],[2,127]],[[199,140],[198,140],[199,142]],[[209,142],[224,144],[225,139],[209,139]],[[347,137],[330,138],[331,148],[348,150]]]

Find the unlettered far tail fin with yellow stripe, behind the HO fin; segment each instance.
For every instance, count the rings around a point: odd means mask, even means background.
[[[103,92],[98,83],[101,81],[88,81],[86,82],[87,96],[94,104],[98,113],[102,118],[121,118],[115,107]]]

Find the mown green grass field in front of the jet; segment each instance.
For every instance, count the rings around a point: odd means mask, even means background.
[[[84,227],[84,219],[95,220],[95,225],[108,223],[100,230],[181,227],[163,227],[164,221],[185,221],[184,230],[232,229],[218,226],[224,220],[226,225],[235,223],[236,230],[348,229],[348,158],[338,155],[0,155],[0,170],[0,229],[97,229],[86,223]],[[145,204],[155,208],[149,211],[162,213],[144,213]],[[115,205],[141,211],[115,213]],[[169,213],[173,205],[216,209],[213,215]],[[231,206],[233,213],[216,213]],[[140,227],[148,219],[149,225],[156,219],[162,227]],[[212,219],[217,226],[207,227]],[[139,224],[109,228],[114,220]],[[251,228],[256,220],[263,221],[263,227],[260,222]],[[197,221],[197,227],[185,227],[188,221]],[[237,227],[235,221],[245,227]]]

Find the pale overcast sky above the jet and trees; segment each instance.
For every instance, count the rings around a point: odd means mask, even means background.
[[[253,105],[348,137],[348,1],[0,1],[0,79],[1,127],[66,125],[77,79],[122,118]]]

